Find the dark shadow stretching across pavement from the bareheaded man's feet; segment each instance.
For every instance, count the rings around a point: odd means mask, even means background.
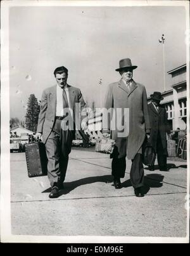
[[[113,182],[113,176],[103,175],[103,176],[87,177],[87,178],[75,180],[72,182],[64,182],[65,189],[60,191],[60,196],[62,194],[68,194],[70,191],[72,191],[73,189],[76,189],[76,187],[79,187],[80,185],[91,184],[94,182],[110,183],[110,182]],[[42,191],[42,193],[47,193],[47,192],[51,192],[51,187],[49,187],[45,191]]]

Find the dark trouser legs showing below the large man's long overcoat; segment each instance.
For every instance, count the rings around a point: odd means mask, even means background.
[[[124,178],[126,168],[125,158],[113,158],[111,163],[111,175],[115,178]],[[137,153],[134,159],[132,159],[132,165],[130,168],[130,182],[136,189],[137,187],[143,187],[144,185],[144,167],[142,161],[142,154]]]

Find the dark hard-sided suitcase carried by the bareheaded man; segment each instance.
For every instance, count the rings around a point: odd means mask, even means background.
[[[47,175],[46,148],[42,142],[25,144],[28,177]]]

